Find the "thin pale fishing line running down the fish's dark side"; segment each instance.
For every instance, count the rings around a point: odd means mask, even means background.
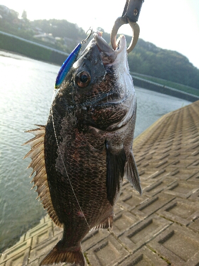
[[[53,100],[54,100],[54,98],[55,98],[55,96],[56,96],[55,94],[57,94],[57,91],[58,91],[58,90],[54,90],[53,97],[52,97],[52,103],[53,103]],[[55,132],[55,138],[56,138],[56,142],[57,142],[57,147],[58,147],[58,150],[59,150],[59,153],[60,153],[60,156],[61,156],[61,159],[62,159],[63,165],[64,165],[64,169],[65,169],[65,172],[66,172],[66,176],[67,176],[67,178],[68,178],[68,180],[69,180],[70,186],[71,186],[71,188],[72,188],[72,191],[73,191],[73,194],[74,194],[74,196],[75,196],[75,199],[76,199],[76,201],[77,201],[77,203],[78,203],[78,206],[79,206],[79,208],[80,208],[80,211],[82,212],[82,214],[83,214],[83,216],[84,216],[84,219],[85,219],[85,221],[86,221],[86,223],[87,223],[87,225],[88,225],[88,227],[89,227],[89,230],[90,230],[90,232],[92,233],[92,235],[93,235],[93,237],[94,237],[94,234],[93,234],[93,232],[92,232],[92,230],[91,230],[91,227],[89,226],[89,223],[87,222],[87,219],[86,219],[86,217],[85,217],[85,215],[84,215],[84,212],[82,211],[82,208],[81,208],[81,206],[80,206],[80,204],[79,204],[79,201],[78,201],[77,196],[76,196],[76,194],[75,194],[75,191],[74,191],[74,189],[73,189],[73,185],[72,185],[72,183],[71,183],[71,180],[70,180],[70,178],[69,178],[68,172],[67,172],[67,170],[66,170],[66,166],[65,166],[65,164],[64,164],[64,160],[63,160],[63,157],[62,157],[62,154],[61,154],[61,151],[60,151],[60,148],[59,148],[58,140],[57,140],[57,134],[56,134],[56,131],[55,131],[55,125],[54,125],[54,120],[53,120],[52,103],[51,103],[50,111],[51,111],[51,115],[52,115],[53,128],[54,128],[54,132]],[[96,242],[96,244],[98,245],[98,248],[99,248],[99,250],[100,250],[100,246],[99,246],[98,242]]]

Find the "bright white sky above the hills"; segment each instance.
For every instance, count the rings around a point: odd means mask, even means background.
[[[0,0],[27,18],[67,19],[84,30],[101,27],[110,33],[115,19],[122,15],[126,0]],[[140,38],[158,47],[175,50],[199,68],[199,0],[145,0],[138,19]],[[132,35],[129,25],[118,33]]]

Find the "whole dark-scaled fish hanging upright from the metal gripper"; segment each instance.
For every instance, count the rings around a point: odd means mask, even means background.
[[[123,179],[142,194],[132,145],[136,95],[126,40],[113,50],[94,33],[60,83],[46,125],[34,138],[28,167],[38,197],[63,237],[41,261],[85,266],[81,241],[92,230],[113,227]],[[34,187],[33,186],[33,187]]]

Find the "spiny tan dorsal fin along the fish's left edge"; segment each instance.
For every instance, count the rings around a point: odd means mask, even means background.
[[[45,126],[42,125],[36,125],[36,126],[38,126],[39,128],[25,131],[34,134],[35,137],[26,141],[23,144],[23,145],[26,144],[30,145],[31,147],[31,150],[24,156],[23,159],[25,159],[26,157],[30,157],[32,159],[31,163],[27,167],[27,168],[32,167],[33,169],[30,176],[32,176],[32,174],[36,172],[36,175],[33,177],[31,183],[34,182],[33,187],[37,186],[36,191],[38,192],[38,197],[40,197],[44,209],[47,209],[50,218],[53,220],[56,226],[62,228],[63,225],[60,223],[59,218],[57,217],[57,214],[55,213],[55,210],[53,208],[50,196],[50,190],[48,187],[45,159],[44,159]]]

